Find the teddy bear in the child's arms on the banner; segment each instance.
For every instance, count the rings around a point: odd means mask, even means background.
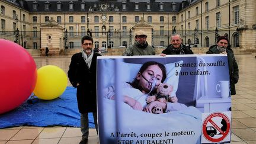
[[[152,101],[160,101],[162,103],[167,103],[167,102],[177,103],[178,98],[171,97],[172,90],[173,88],[171,85],[161,83],[158,85],[158,88],[156,89],[156,94],[146,98],[146,103],[149,104]],[[156,105],[152,109],[152,113],[161,114],[161,113],[164,113],[164,111],[162,110],[162,107],[160,107],[159,105]]]

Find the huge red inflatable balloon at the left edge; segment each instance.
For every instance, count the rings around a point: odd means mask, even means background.
[[[20,45],[4,39],[0,39],[0,79],[0,114],[24,103],[37,80],[33,57]]]

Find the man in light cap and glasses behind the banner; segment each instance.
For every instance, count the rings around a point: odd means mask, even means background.
[[[135,34],[135,43],[124,50],[123,56],[155,55],[155,50],[148,44],[146,38],[147,34],[145,31],[137,31]]]

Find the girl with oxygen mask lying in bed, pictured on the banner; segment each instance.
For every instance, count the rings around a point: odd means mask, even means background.
[[[154,61],[144,63],[137,72],[136,78],[132,82],[125,82],[122,85],[121,94],[124,96],[124,103],[134,110],[155,114],[186,108],[186,105],[178,103],[178,98],[175,95],[171,95],[172,90],[170,89],[168,95],[158,97],[158,88],[167,89],[168,87],[168,84],[163,84],[166,77],[166,69],[162,63]],[[170,87],[172,86],[169,85]],[[115,97],[114,86],[104,89],[104,98],[115,100]]]

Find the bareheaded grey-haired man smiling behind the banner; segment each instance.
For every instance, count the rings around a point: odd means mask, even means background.
[[[167,46],[165,50],[160,54],[161,56],[165,55],[186,55],[193,54],[192,50],[181,43],[182,39],[179,34],[174,34],[171,36],[171,44]]]

